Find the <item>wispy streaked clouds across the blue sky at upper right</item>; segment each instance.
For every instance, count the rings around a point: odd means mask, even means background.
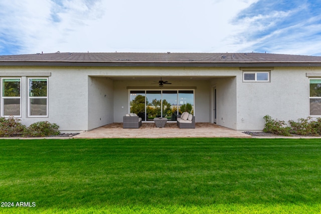
[[[234,25],[245,26],[239,34],[240,50],[318,55],[320,7],[319,1],[261,0],[253,4],[233,20]]]

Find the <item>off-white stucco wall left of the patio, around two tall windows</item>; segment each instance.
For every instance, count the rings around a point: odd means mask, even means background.
[[[0,72],[21,75],[21,122],[57,123],[65,133],[88,128],[88,75],[82,69],[53,67],[1,67]],[[49,76],[39,76],[39,74]],[[6,77],[10,77],[8,74]],[[26,76],[27,75],[27,76]],[[48,77],[48,117],[28,117],[28,77]]]

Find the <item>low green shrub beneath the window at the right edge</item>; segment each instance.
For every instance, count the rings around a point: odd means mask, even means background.
[[[307,117],[306,119],[299,118],[298,122],[289,120],[289,123],[291,124],[292,131],[295,134],[314,135],[314,136],[318,135],[316,129],[320,123],[317,123],[317,121],[311,121],[311,117]]]

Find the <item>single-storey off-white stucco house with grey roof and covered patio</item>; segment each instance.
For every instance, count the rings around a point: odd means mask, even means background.
[[[264,53],[50,53],[0,56],[1,116],[82,132],[138,113],[262,130],[263,116],[321,116],[321,57]],[[161,82],[159,82],[161,81]],[[169,84],[171,83],[171,84]],[[161,86],[161,87],[160,87]],[[182,109],[181,109],[182,108]]]

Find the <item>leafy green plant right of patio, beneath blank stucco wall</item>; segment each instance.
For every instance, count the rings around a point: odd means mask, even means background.
[[[264,132],[271,132],[273,134],[291,136],[291,127],[286,126],[285,121],[272,119],[272,117],[269,115],[265,115],[263,119],[265,120],[265,125],[263,129]]]

